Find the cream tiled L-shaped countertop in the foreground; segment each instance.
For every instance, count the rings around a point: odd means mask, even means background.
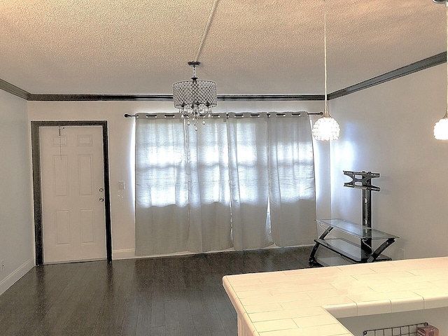
[[[239,336],[353,335],[337,318],[448,307],[448,257],[223,277]]]

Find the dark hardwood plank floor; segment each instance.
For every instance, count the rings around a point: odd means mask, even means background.
[[[228,274],[309,267],[311,247],[34,267],[0,295],[0,335],[237,335]]]

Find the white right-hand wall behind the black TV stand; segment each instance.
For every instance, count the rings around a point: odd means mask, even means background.
[[[400,239],[393,258],[448,255],[448,141],[433,137],[447,108],[446,65],[332,100],[341,138],[330,148],[332,217],[360,223],[361,190],[343,170],[372,171],[372,223]]]

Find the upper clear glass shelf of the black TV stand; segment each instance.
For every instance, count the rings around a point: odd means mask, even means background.
[[[367,226],[345,221],[344,219],[332,218],[332,219],[317,219],[318,223],[328,225],[331,228],[345,232],[349,235],[358,237],[360,239],[390,239],[398,238],[394,235],[389,235],[386,232],[368,228]]]

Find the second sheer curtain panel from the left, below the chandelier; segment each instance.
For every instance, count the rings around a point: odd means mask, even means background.
[[[207,119],[200,130],[186,127],[188,151],[188,251],[232,247],[228,139],[225,119]]]

